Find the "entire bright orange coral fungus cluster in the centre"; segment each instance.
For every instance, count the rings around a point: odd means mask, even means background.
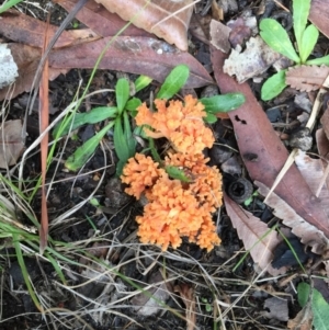
[[[188,95],[184,102],[155,100],[157,112],[146,104],[138,109],[137,125],[148,125],[152,138],[166,137],[172,146],[161,163],[151,157],[136,153],[124,167],[122,181],[126,192],[137,200],[148,200],[144,215],[136,218],[138,236],[144,243],[178,248],[182,237],[208,251],[220,243],[212,213],[222,205],[222,175],[208,167],[204,148],[213,146],[214,137],[204,125],[203,104]],[[188,180],[174,179],[167,171],[174,167]]]

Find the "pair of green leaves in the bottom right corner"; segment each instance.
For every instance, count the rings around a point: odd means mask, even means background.
[[[309,284],[299,283],[297,292],[298,303],[304,307],[310,293]],[[315,330],[327,330],[329,323],[329,305],[316,288],[313,289],[311,311],[314,315],[313,326]]]

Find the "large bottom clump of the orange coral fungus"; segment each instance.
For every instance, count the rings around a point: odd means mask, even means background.
[[[208,207],[201,205],[181,181],[161,177],[147,196],[150,202],[144,215],[136,218],[141,242],[157,243],[162,250],[170,244],[175,249],[186,236],[208,251],[220,243]]]

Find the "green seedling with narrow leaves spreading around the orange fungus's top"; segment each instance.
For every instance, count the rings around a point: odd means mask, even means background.
[[[179,65],[169,73],[163,84],[161,86],[156,99],[171,99],[186,82],[190,75],[190,69],[185,65]],[[145,76],[139,77],[135,81],[136,92],[146,88],[151,82],[151,79]],[[136,153],[137,140],[135,136],[141,135],[140,127],[132,130],[131,120],[137,114],[137,107],[141,101],[129,95],[129,82],[121,78],[115,87],[116,106],[101,106],[91,110],[89,113],[71,114],[68,118],[60,122],[54,129],[53,136],[58,138],[68,134],[84,124],[95,124],[102,121],[109,121],[98,134],[87,140],[71,155],[65,166],[71,170],[79,170],[88,159],[93,155],[97,147],[101,143],[105,134],[113,127],[113,143],[118,163],[116,166],[116,174],[121,175],[122,169],[126,161]],[[237,109],[245,102],[245,95],[240,93],[228,93],[225,95],[216,95],[213,98],[201,99],[200,101],[205,106],[207,116],[206,123],[216,122],[216,114],[219,112],[228,112]],[[173,175],[182,175],[178,170],[171,169]]]

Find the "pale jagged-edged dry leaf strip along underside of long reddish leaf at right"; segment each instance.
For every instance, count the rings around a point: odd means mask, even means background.
[[[269,187],[259,181],[254,181],[259,193],[266,196]],[[275,193],[268,196],[266,204],[273,208],[273,214],[282,219],[283,224],[292,228],[292,232],[300,238],[300,241],[311,247],[311,251],[322,254],[329,249],[329,240],[321,230],[304,220],[296,212]]]

